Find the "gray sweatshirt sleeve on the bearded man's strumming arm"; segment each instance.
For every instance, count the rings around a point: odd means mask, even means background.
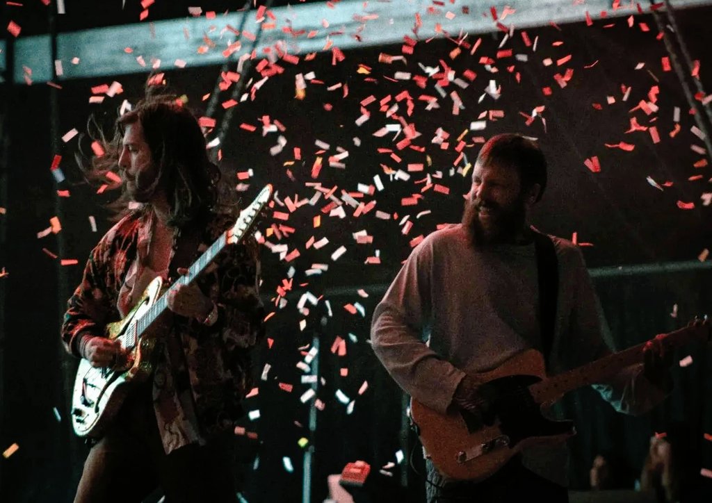
[[[371,324],[376,356],[414,399],[446,413],[464,372],[424,341],[432,308],[433,240],[415,248],[377,305]]]

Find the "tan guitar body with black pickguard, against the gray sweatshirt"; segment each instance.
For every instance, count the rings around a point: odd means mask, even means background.
[[[545,378],[544,369],[541,354],[530,349],[493,371],[476,374],[501,395],[495,408],[504,422],[498,416],[486,425],[479,416],[460,411],[444,415],[412,400],[411,414],[420,440],[442,475],[451,480],[485,480],[524,448],[561,442],[575,434],[571,421],[545,418],[542,403],[528,391],[528,386]]]

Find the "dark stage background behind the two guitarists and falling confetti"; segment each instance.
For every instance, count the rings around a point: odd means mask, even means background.
[[[170,17],[164,4],[156,5]],[[122,21],[111,17],[120,9],[94,17],[93,7],[88,4],[86,9],[88,21],[68,16],[58,21],[58,30]],[[136,12],[125,19],[134,22]],[[403,500],[419,501],[424,482],[408,467],[411,457],[417,468],[421,465],[419,446],[404,428],[402,393],[370,349],[370,316],[417,238],[440,223],[459,221],[461,196],[469,187],[464,166],[493,134],[517,131],[539,139],[550,162],[550,181],[533,223],[566,238],[575,233],[595,274],[612,345],[624,349],[710,312],[712,270],[706,268],[704,252],[712,245],[710,196],[704,196],[712,192],[708,153],[691,148],[705,147],[691,132],[696,123],[678,78],[663,70],[661,58],[667,53],[656,38],[654,19],[649,14],[634,19],[632,26],[627,17],[596,16],[592,26],[581,22],[528,28],[531,41],[538,37],[536,51],[515,31],[502,48],[502,32],[471,33],[466,38],[470,46],[461,45],[459,55],[452,53],[457,34],[454,39],[422,40],[412,55],[391,63],[383,55],[403,55],[402,43],[345,51],[341,61],[334,60],[332,51],[316,53],[310,60],[302,55],[297,65],[278,61],[283,73],[256,88],[263,78],[258,58],[239,83],[221,92],[219,102],[228,100],[237,86],[238,96],[247,95],[230,109],[217,106],[211,115],[220,125],[226,113],[232,114],[221,144],[211,149],[225,179],[231,185],[244,184],[246,190],[239,195],[246,201],[266,182],[278,190],[276,206],[260,227],[266,239],[262,294],[268,312],[274,314],[266,322],[268,340],[256,355],[258,394],[246,401],[247,410],[259,411],[259,417],[242,423],[258,440],[237,439],[247,501],[302,501],[305,450],[313,452],[309,482],[313,501],[327,497],[329,474],[357,459],[376,469],[395,463],[387,471],[393,483],[402,486]],[[693,59],[700,61],[699,80],[709,85],[712,9],[681,10],[678,20]],[[47,29],[41,21],[25,21],[25,26],[27,33]],[[11,60],[12,41],[5,36]],[[471,45],[478,39],[480,46],[471,55]],[[528,60],[498,57],[498,51],[507,48]],[[570,60],[557,64],[567,55]],[[425,67],[439,66],[441,71],[445,63],[468,87],[451,82],[444,88],[448,96],[441,97],[437,79],[428,78]],[[567,69],[573,71],[572,77],[561,87],[555,75],[565,75]],[[230,70],[235,71],[235,65]],[[474,80],[468,79],[467,70],[476,73]],[[188,106],[205,115],[209,100],[202,98],[219,92],[215,87],[220,72],[218,66],[171,69],[164,71],[164,78],[185,95]],[[310,72],[313,79],[306,80],[305,95],[298,99],[295,79]],[[423,76],[423,87],[417,80],[399,79],[397,72]],[[147,73],[134,73],[62,80],[61,89],[44,83],[14,84],[9,78],[2,84],[6,148],[0,157],[4,176],[0,268],[6,274],[0,277],[0,450],[14,443],[19,449],[0,458],[0,501],[67,502],[73,497],[86,448],[73,436],[67,420],[77,362],[64,353],[58,328],[90,249],[110,226],[103,205],[112,194],[95,194],[73,160],[80,149],[90,152],[88,139],[77,136],[62,142],[61,137],[73,128],[86,132],[90,115],[110,125],[123,100],[135,102],[140,97],[146,78]],[[120,95],[100,104],[88,102],[91,88],[113,80],[122,85]],[[497,99],[486,93],[490,80],[496,81],[495,88],[501,86]],[[642,110],[647,105],[639,103],[652,101],[654,86],[658,108],[648,114]],[[456,115],[452,91],[464,107]],[[371,96],[375,100],[364,105]],[[431,99],[438,108],[429,109]],[[388,111],[394,103],[402,123]],[[536,107],[541,107],[538,115],[528,123]],[[675,107],[680,109],[679,122],[674,120]],[[357,125],[362,109],[370,118]],[[632,118],[640,127],[656,127],[660,141],[654,143],[649,129],[629,132]],[[468,130],[477,120],[486,120],[485,129]],[[402,131],[382,134],[382,128],[398,124],[419,133],[411,146],[397,146],[404,139]],[[675,133],[676,124],[680,128]],[[266,125],[278,127],[263,129]],[[446,148],[433,141],[444,136],[438,134],[439,128],[449,135]],[[216,130],[207,132],[208,139],[215,136]],[[273,154],[279,137],[286,144]],[[634,149],[605,145],[620,142]],[[337,160],[344,166],[330,166],[329,157],[339,155],[340,149],[348,151],[347,157]],[[66,176],[60,184],[49,169],[57,154]],[[585,165],[592,157],[600,162],[600,172]],[[322,167],[315,175],[319,162]],[[409,165],[421,166],[409,170]],[[245,172],[246,178],[238,179],[236,174]],[[341,206],[328,207],[330,201],[323,194],[315,200],[319,192],[315,184],[327,191],[336,187],[333,196]],[[58,196],[60,190],[69,191],[68,196]],[[354,216],[357,208],[342,191],[357,203],[375,201],[375,207]],[[403,201],[414,195],[414,205]],[[693,208],[686,209],[690,203]],[[38,238],[54,216],[60,219],[61,231]],[[97,224],[95,232],[90,216]],[[362,231],[372,241],[357,242],[355,233]],[[317,242],[327,238],[328,243],[316,249],[308,243],[312,236]],[[345,252],[334,258],[341,246]],[[296,257],[294,250],[299,252]],[[375,257],[379,263],[367,263],[376,262]],[[78,263],[61,265],[63,259]],[[310,274],[319,265],[328,265],[328,270]],[[286,297],[278,298],[278,289],[288,283]],[[314,296],[315,305],[307,301],[300,306],[306,292]],[[302,383],[305,372],[297,364],[315,341],[316,396],[322,408],[311,433],[314,398],[300,400],[311,385]],[[345,354],[337,349],[340,341]],[[578,430],[570,441],[573,489],[587,489],[588,468],[600,452],[614,452],[638,472],[650,436],[671,428],[689,435],[685,445],[690,459],[700,468],[712,469],[712,443],[703,436],[712,433],[712,411],[707,406],[712,391],[709,349],[679,349],[676,361],[688,355],[693,364],[675,366],[674,393],[648,415],[618,415],[590,389],[567,397],[563,406]]]

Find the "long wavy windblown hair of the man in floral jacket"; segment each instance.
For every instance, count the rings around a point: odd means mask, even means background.
[[[200,125],[192,112],[169,95],[147,96],[133,110],[118,117],[110,141],[99,133],[98,141],[105,152],[93,157],[88,169],[83,168],[88,178],[106,179],[110,171],[118,168],[125,129],[136,122],[142,125],[152,162],[157,167],[156,185],[166,192],[169,226],[184,227],[200,221],[210,211],[220,211],[217,189],[220,171],[208,158]],[[115,183],[112,188],[118,186]],[[126,185],[120,186],[120,197],[109,205],[117,213],[116,218],[130,210]]]

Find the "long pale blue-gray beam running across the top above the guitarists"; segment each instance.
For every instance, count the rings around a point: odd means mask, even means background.
[[[223,51],[231,44],[240,48],[228,58],[238,60],[245,55],[251,34],[262,25],[261,40],[256,48],[258,57],[266,51],[280,51],[303,55],[337,47],[342,51],[367,46],[385,46],[400,43],[404,36],[415,37],[413,30],[417,18],[417,37],[421,40],[442,36],[457,37],[461,33],[488,33],[507,28],[530,28],[584,21],[587,14],[593,20],[637,16],[639,3],[623,2],[612,8],[609,0],[588,0],[575,4],[571,0],[509,0],[513,14],[497,21],[491,16],[491,0],[472,0],[467,4],[435,6],[431,0],[397,0],[390,2],[345,0],[329,7],[327,2],[283,6],[268,9],[267,15],[257,18],[257,10],[232,12],[213,19],[188,17],[180,20],[137,23],[71,33],[61,33],[57,40],[57,58],[61,61],[62,75],[58,80],[103,77],[143,73],[150,68],[159,70],[221,65],[226,62]],[[674,9],[711,5],[712,0],[678,0]],[[465,14],[463,8],[467,7]],[[641,6],[648,12],[649,6]],[[504,7],[498,9],[502,16]],[[244,30],[237,35],[232,28],[241,25],[247,16]],[[325,21],[328,27],[325,27]],[[501,23],[498,27],[497,23]],[[207,46],[209,37],[214,47],[199,53]],[[126,49],[130,48],[127,53]],[[138,58],[145,64],[142,65]],[[0,42],[0,71],[5,68],[4,41]],[[33,83],[48,82],[52,78],[54,61],[48,35],[20,37],[15,42],[13,80],[23,83],[26,77]],[[73,63],[74,62],[74,63]],[[31,70],[31,75],[26,69]]]

